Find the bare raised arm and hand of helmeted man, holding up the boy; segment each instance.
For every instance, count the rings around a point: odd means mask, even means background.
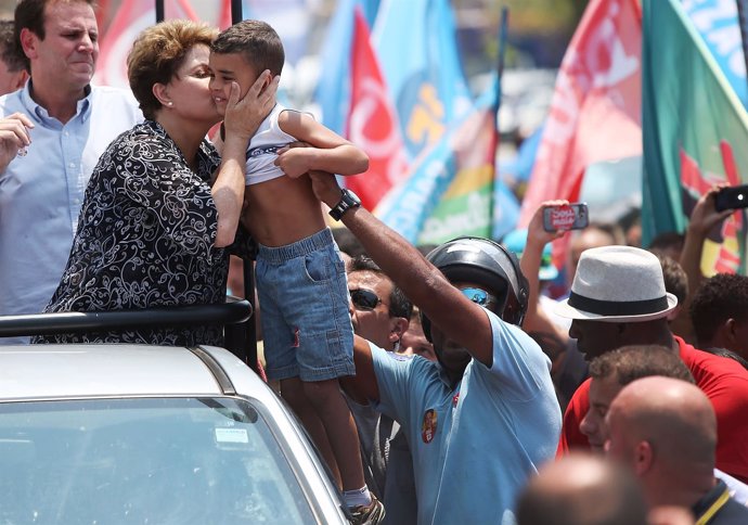
[[[310,177],[317,197],[330,207],[335,206],[340,200],[335,177],[318,171],[310,172]],[[465,297],[411,243],[366,209],[350,209],[341,220],[361,241],[369,256],[431,323],[475,359],[487,367],[493,364],[491,323],[480,306]]]

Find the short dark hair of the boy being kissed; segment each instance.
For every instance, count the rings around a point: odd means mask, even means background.
[[[210,51],[219,54],[241,54],[259,75],[270,69],[273,76],[281,74],[285,53],[275,29],[258,20],[245,20],[222,30]]]

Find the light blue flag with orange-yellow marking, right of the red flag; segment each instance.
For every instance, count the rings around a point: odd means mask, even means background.
[[[448,0],[383,0],[373,36],[409,158],[472,111]]]

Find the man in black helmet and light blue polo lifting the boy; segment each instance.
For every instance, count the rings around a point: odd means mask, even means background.
[[[473,238],[427,260],[332,176],[311,178],[331,208],[349,203],[337,218],[421,307],[434,343],[437,363],[354,341],[358,394],[397,420],[411,445],[418,523],[512,520],[517,492],[554,457],[562,420],[550,360],[519,328],[527,284],[516,257]]]

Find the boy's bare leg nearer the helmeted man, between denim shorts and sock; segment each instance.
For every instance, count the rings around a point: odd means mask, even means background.
[[[366,483],[363,478],[359,433],[337,380],[302,382],[302,385],[337,462],[343,490],[360,489]]]

